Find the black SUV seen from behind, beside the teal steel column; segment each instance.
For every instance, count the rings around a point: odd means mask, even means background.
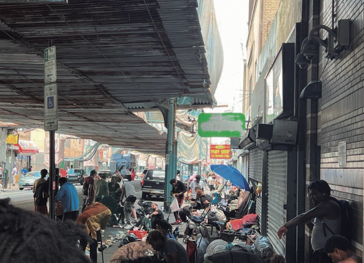
[[[147,200],[149,197],[164,196],[164,170],[144,170],[142,185],[142,199]]]

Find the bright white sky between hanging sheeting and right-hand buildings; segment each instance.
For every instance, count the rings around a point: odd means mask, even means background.
[[[242,112],[243,54],[248,36],[249,0],[213,0],[216,19],[221,36],[224,63],[215,99],[217,105],[228,104],[229,108],[215,108],[212,112]],[[246,51],[245,55],[246,55]],[[206,111],[211,112],[211,111]]]

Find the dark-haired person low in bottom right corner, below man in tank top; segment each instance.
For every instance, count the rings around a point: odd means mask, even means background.
[[[344,236],[333,235],[326,241],[325,253],[334,263],[362,263],[363,259],[351,250],[350,241]]]

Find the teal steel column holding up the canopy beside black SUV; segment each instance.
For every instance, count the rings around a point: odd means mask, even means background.
[[[175,172],[174,169],[174,152],[173,152],[173,137],[174,137],[174,104],[175,99],[169,100],[169,110],[168,110],[168,132],[167,132],[167,160],[169,162],[167,163],[166,160],[166,176],[165,176],[165,184],[164,184],[164,209],[166,212],[170,211],[170,204],[172,203],[172,196],[170,195],[170,192],[172,190],[172,185],[169,183],[169,181],[172,178],[175,178]]]

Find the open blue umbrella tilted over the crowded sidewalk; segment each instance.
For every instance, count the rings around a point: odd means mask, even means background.
[[[246,191],[250,191],[248,182],[246,182],[244,176],[236,168],[225,164],[210,164],[210,168],[211,171],[220,175],[222,178],[230,180],[232,184],[235,184]]]

